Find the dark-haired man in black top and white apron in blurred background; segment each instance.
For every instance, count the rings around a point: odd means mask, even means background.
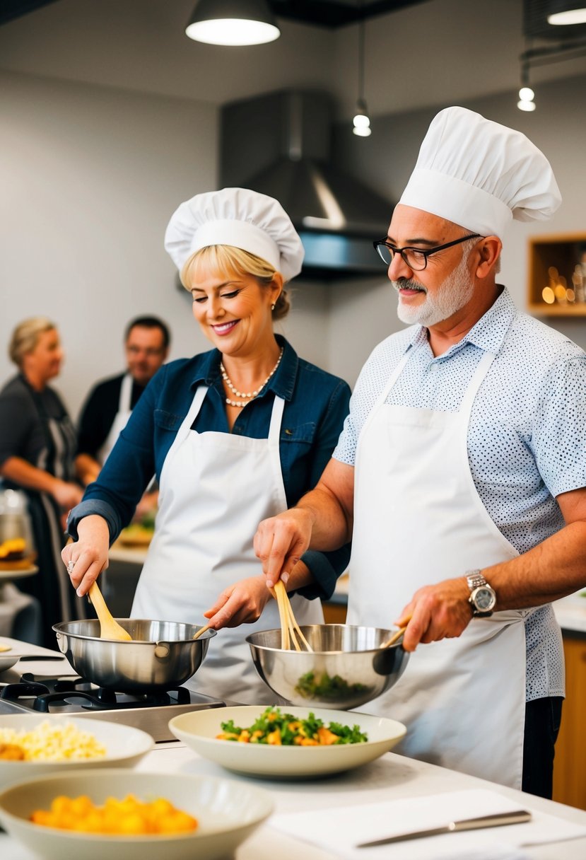
[[[156,316],[137,316],[126,327],[125,372],[95,384],[79,418],[76,471],[84,486],[100,474],[138,398],[166,361],[169,344],[168,326]],[[137,519],[156,509],[157,497],[151,487],[138,503]]]

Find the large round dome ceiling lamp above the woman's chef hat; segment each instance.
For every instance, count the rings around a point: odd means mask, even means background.
[[[208,45],[263,45],[281,32],[266,0],[198,0],[186,34]]]

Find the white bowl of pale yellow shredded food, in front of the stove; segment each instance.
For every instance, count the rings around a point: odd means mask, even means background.
[[[0,716],[0,787],[88,767],[134,767],[150,734],[117,722],[54,714]]]

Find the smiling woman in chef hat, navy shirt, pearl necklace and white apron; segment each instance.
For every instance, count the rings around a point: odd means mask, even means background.
[[[253,550],[259,520],[313,487],[327,463],[350,389],[297,357],[273,320],[288,310],[284,283],[303,249],[277,200],[245,188],[197,194],[174,212],[165,247],[192,293],[193,316],[214,349],[164,365],[133,410],[99,480],[71,512],[76,543],[63,553],[77,593],[107,565],[108,544],[130,519],[153,472],[156,531],[131,615],[235,627],[223,630],[192,684],[243,703],[271,703],[244,642],[278,627],[276,603]],[[292,598],[297,620],[319,624],[320,601],[347,548],[310,552],[287,585],[321,585]],[[268,605],[267,605],[268,602]]]

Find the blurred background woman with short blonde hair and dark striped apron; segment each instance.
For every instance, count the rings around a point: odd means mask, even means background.
[[[57,391],[64,352],[54,322],[34,316],[16,326],[9,357],[17,375],[0,391],[0,476],[25,492],[39,574],[19,581],[21,591],[40,601],[42,641],[55,648],[52,624],[82,617],[64,575],[60,552],[64,518],[82,499],[75,480],[76,433]]]

